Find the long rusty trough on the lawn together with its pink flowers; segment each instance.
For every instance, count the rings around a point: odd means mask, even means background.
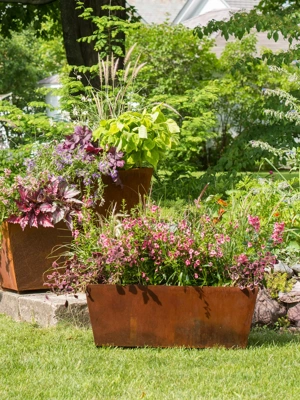
[[[208,207],[163,217],[150,205],[90,221],[47,286],[86,290],[97,345],[245,347],[281,243],[275,228],[251,215],[215,221]]]

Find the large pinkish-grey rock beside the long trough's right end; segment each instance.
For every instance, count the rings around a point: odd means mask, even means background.
[[[266,289],[258,292],[252,324],[273,325],[278,318],[286,315],[286,307],[272,299]]]

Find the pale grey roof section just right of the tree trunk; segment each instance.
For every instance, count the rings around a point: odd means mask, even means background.
[[[143,21],[148,24],[162,24],[167,19],[173,21],[186,0],[127,0],[134,6]]]

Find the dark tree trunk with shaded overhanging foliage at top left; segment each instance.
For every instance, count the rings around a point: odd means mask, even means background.
[[[82,4],[95,17],[113,15],[120,20],[126,19],[125,0],[85,0]],[[0,34],[10,36],[12,31],[20,32],[33,24],[38,35],[49,36],[61,27],[69,65],[90,67],[98,62],[93,40],[83,42],[78,39],[92,37],[97,26],[93,18],[80,18],[81,13],[77,0],[0,0]],[[49,18],[54,22],[53,31],[45,32],[43,24]],[[113,33],[109,37],[114,38]],[[111,40],[111,52],[114,52],[113,46]]]

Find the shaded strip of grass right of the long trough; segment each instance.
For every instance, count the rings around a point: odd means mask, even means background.
[[[254,328],[248,340],[249,347],[283,347],[287,344],[300,344],[300,331],[290,332],[288,330],[278,331],[265,328]]]

